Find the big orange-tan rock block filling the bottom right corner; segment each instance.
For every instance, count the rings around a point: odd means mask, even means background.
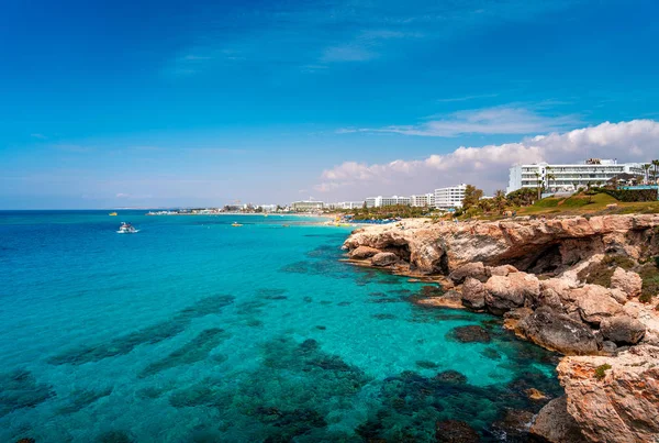
[[[655,442],[659,435],[659,347],[565,357],[557,367],[567,410],[590,442]],[[611,368],[605,369],[608,365]],[[597,368],[603,377],[595,377]]]

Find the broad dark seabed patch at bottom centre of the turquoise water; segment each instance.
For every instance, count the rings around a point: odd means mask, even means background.
[[[261,350],[256,369],[201,380],[171,395],[170,405],[233,411],[219,441],[346,441],[327,429],[327,416],[350,405],[371,378],[313,339],[280,337]]]

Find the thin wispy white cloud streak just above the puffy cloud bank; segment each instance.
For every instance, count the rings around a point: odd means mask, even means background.
[[[436,120],[414,125],[340,129],[337,133],[372,132],[433,137],[460,134],[530,134],[560,131],[569,125],[573,126],[579,121],[574,115],[545,117],[526,108],[511,106],[458,111],[446,115],[432,115],[431,119]]]

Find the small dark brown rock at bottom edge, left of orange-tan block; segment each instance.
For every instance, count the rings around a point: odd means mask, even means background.
[[[568,413],[566,396],[549,401],[536,416],[530,434],[549,443],[581,443],[583,435],[577,421]]]

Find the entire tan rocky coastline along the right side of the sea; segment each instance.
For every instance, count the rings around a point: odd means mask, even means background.
[[[659,441],[659,214],[403,220],[354,231],[348,259],[437,281],[423,304],[490,312],[563,355],[548,442]]]

